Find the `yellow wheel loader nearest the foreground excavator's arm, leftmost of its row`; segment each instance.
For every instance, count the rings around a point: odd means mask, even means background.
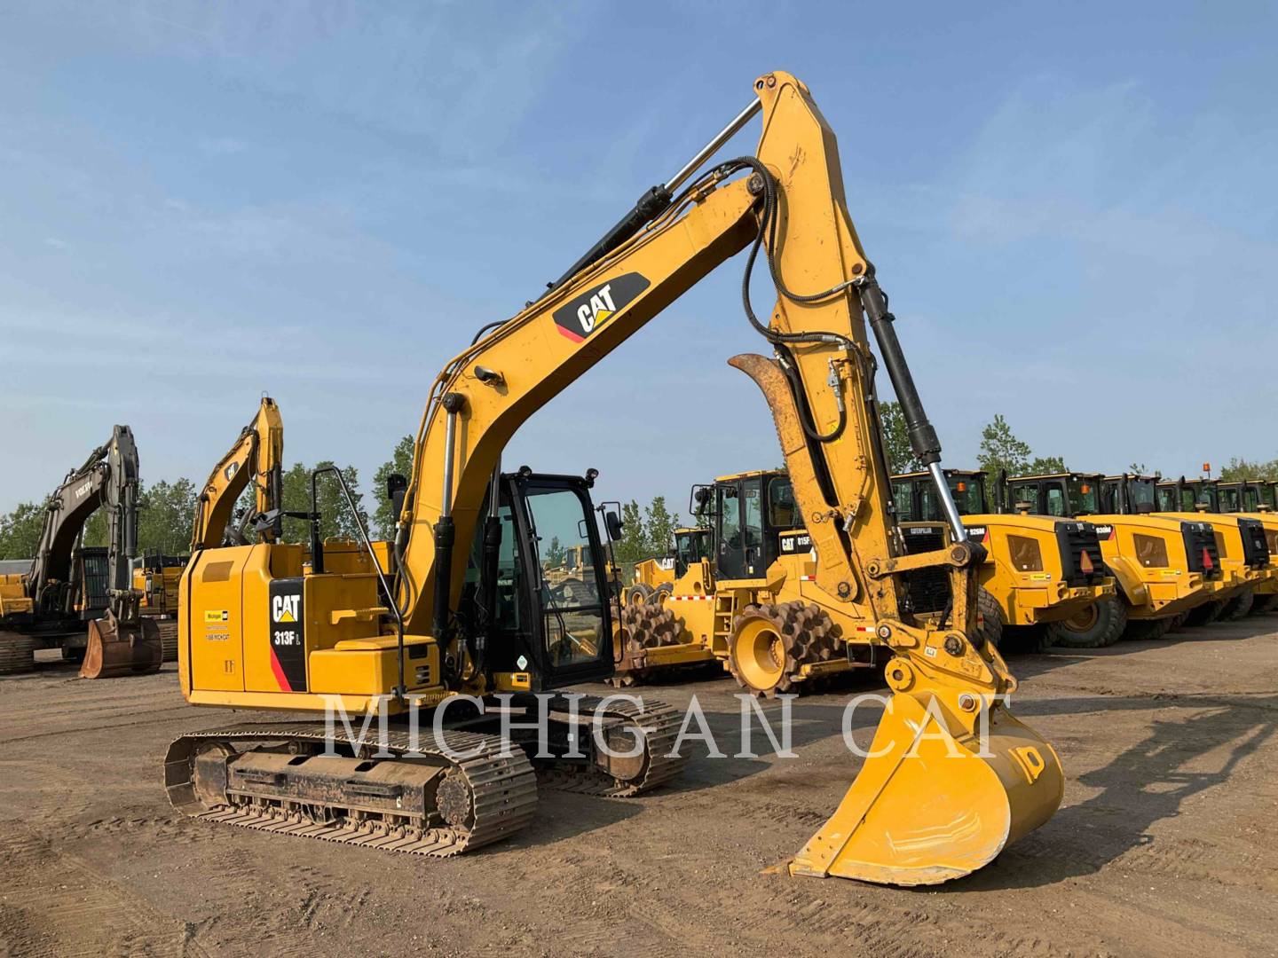
[[[947,469],[950,490],[967,535],[985,548],[980,585],[988,595],[983,628],[998,641],[1005,626],[1036,628],[1079,616],[1114,594],[1097,528],[1082,520],[999,513],[989,503],[985,473]],[[935,542],[944,525],[927,473],[892,476],[892,499],[907,551]],[[1033,630],[1033,631],[1029,631]]]

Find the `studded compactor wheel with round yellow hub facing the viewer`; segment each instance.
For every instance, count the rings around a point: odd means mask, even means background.
[[[803,665],[838,654],[840,630],[819,605],[804,602],[746,605],[732,621],[727,664],[737,685],[766,699],[796,686]]]

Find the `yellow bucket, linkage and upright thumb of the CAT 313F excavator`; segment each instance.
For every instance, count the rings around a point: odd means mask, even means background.
[[[975,628],[979,547],[964,538],[938,552],[875,556],[877,536],[861,529],[864,520],[849,511],[843,522],[829,521],[780,365],[754,355],[728,364],[754,379],[772,410],[799,508],[813,517],[823,600],[865,622],[893,655],[891,696],[873,745],[860,752],[860,774],[790,872],[892,885],[967,875],[1052,817],[1065,782],[1052,746],[1008,711],[1016,680]],[[891,599],[902,572],[929,566],[950,576],[948,625],[944,616],[902,614]]]

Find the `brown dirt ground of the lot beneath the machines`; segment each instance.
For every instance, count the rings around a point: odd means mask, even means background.
[[[183,819],[160,786],[166,743],[249,717],[184,705],[171,665],[101,682],[47,665],[0,680],[0,953],[1275,954],[1275,630],[1012,658],[1065,803],[994,866],[924,890],[762,874],[856,773],[846,692],[796,704],[799,759],[694,746],[672,788],[543,792],[512,840],[433,861]],[[695,694],[725,751],[734,691],[644,690]]]

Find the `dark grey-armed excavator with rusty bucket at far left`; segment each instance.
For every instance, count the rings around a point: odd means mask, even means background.
[[[87,548],[84,524],[98,508],[107,545]],[[82,678],[158,669],[158,630],[133,589],[137,531],[138,447],[133,430],[116,425],[49,497],[31,572],[0,576],[0,668],[33,668],[37,648],[60,648]]]

